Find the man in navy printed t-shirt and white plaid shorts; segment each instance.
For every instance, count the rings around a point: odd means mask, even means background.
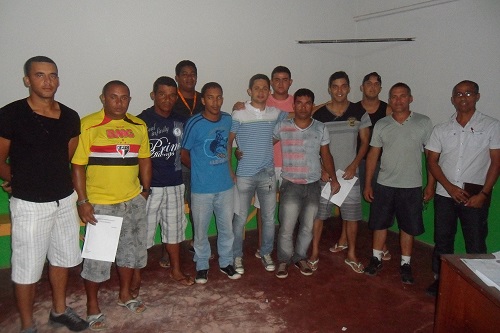
[[[186,239],[184,191],[181,168],[181,142],[187,118],[172,112],[177,100],[174,79],[162,76],[153,84],[154,105],[138,117],[148,126],[153,176],[147,203],[148,248],[154,245],[156,227],[161,225],[162,242],[170,256],[163,256],[160,265],[172,266],[170,277],[183,285],[194,284],[180,268],[180,243]]]

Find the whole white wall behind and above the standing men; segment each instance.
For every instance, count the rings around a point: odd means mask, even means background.
[[[400,3],[378,2],[382,9]],[[57,99],[81,115],[100,108],[100,90],[112,79],[130,86],[129,111],[139,113],[151,105],[153,81],[161,75],[174,76],[175,64],[191,59],[198,66],[198,89],[208,81],[223,86],[225,110],[247,97],[250,76],[269,75],[282,64],[292,71],[292,92],[311,88],[317,102],[329,98],[327,80],[337,70],[350,75],[353,101],[361,97],[358,86],[368,72],[382,75],[384,100],[392,84],[406,82],[413,89],[413,110],[434,122],[453,111],[449,103],[453,85],[472,79],[480,85],[479,109],[500,118],[495,103],[500,82],[500,1],[459,0],[353,20],[374,10],[373,3],[0,0],[0,106],[27,95],[22,65],[33,55],[47,55],[59,66]],[[416,41],[296,43],[376,37],[416,37]]]

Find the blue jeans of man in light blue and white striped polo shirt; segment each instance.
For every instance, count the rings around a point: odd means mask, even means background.
[[[243,232],[247,221],[248,209],[255,192],[260,201],[262,216],[261,255],[270,254],[274,246],[274,214],[276,211],[276,174],[274,168],[263,169],[252,177],[237,178],[236,186],[240,201],[240,209],[234,215],[234,257],[243,257]]]

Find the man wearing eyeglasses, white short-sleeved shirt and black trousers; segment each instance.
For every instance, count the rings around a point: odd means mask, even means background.
[[[436,125],[425,147],[429,171],[438,181],[434,199],[435,281],[439,286],[439,256],[454,252],[457,219],[460,219],[467,253],[486,253],[488,209],[500,167],[500,121],[476,111],[479,86],[462,81],[453,88],[456,113]]]

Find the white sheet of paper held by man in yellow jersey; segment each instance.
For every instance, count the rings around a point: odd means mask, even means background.
[[[88,223],[82,258],[115,261],[123,217],[95,215],[97,223]]]

